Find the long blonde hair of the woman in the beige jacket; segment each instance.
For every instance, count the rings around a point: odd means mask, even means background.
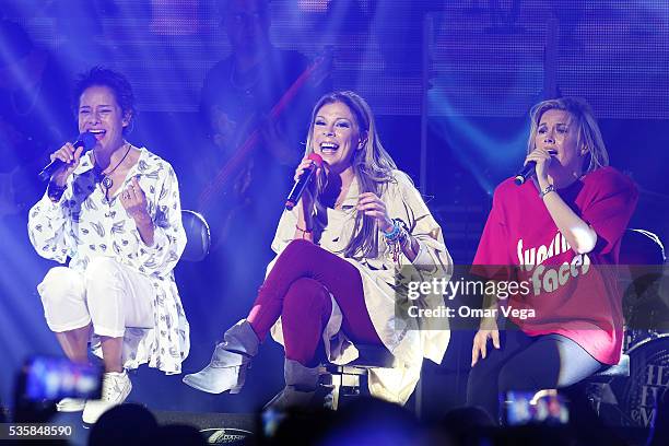
[[[332,92],[326,94],[316,103],[312,111],[306,154],[314,152],[314,122],[318,111],[324,105],[334,103],[341,103],[349,107],[355,120],[353,125],[364,142],[363,148],[355,150],[351,160],[353,174],[360,185],[360,192],[374,192],[380,197],[386,185],[395,180],[392,171],[397,169],[397,165],[380,142],[369,105],[357,94],[348,91]],[[324,187],[325,184],[319,181],[318,196],[322,192]],[[343,249],[343,254],[344,257],[378,257],[378,227],[374,218],[364,216],[362,213],[355,215],[353,236]]]

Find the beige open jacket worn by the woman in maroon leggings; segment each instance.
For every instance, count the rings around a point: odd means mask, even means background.
[[[447,275],[448,279],[453,274],[453,259],[444,245],[442,228],[409,176],[400,171],[394,171],[392,175],[395,181],[388,184],[382,199],[386,203],[388,215],[391,219],[401,219],[420,245],[420,253],[413,263],[401,256],[401,265],[407,267],[402,269],[402,275],[409,274],[411,280],[430,280],[430,274],[438,270],[439,277]],[[319,245],[342,258],[341,251],[353,233],[359,193],[359,184],[354,180],[341,210],[325,209],[317,214],[317,221],[322,227]],[[297,208],[283,212],[272,242],[272,250],[277,255],[294,238],[296,222]],[[379,236],[379,244],[380,254],[377,258],[344,260],[360,271],[365,304],[374,328],[398,363],[395,368],[371,371],[369,392],[375,397],[403,404],[420,378],[423,357],[441,363],[450,332],[444,319],[416,320],[396,315],[394,285],[397,282],[397,265],[383,235]],[[268,266],[268,272],[275,260],[277,258]],[[443,304],[442,295],[430,295],[420,302],[421,307],[437,307]],[[355,345],[340,330],[341,318],[341,312],[332,300],[332,314],[324,331],[324,341],[329,361],[336,364],[345,364],[359,355]],[[278,342],[283,343],[281,320],[272,327],[271,333]]]

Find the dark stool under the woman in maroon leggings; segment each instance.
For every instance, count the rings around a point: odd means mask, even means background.
[[[320,384],[331,388],[331,409],[337,410],[345,399],[368,395],[367,375],[369,368],[392,368],[395,356],[383,345],[356,344],[360,355],[348,364],[325,364],[326,374]]]

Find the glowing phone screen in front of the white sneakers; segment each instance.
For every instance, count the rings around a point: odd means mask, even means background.
[[[23,397],[31,401],[101,397],[103,369],[97,365],[78,364],[66,357],[34,356],[25,363],[23,373]]]

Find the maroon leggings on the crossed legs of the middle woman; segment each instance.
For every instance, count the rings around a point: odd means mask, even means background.
[[[247,319],[262,340],[281,316],[285,357],[313,366],[332,312],[330,293],[343,315],[341,329],[347,337],[353,343],[382,345],[367,314],[357,269],[302,239],[291,242],[281,253]]]

